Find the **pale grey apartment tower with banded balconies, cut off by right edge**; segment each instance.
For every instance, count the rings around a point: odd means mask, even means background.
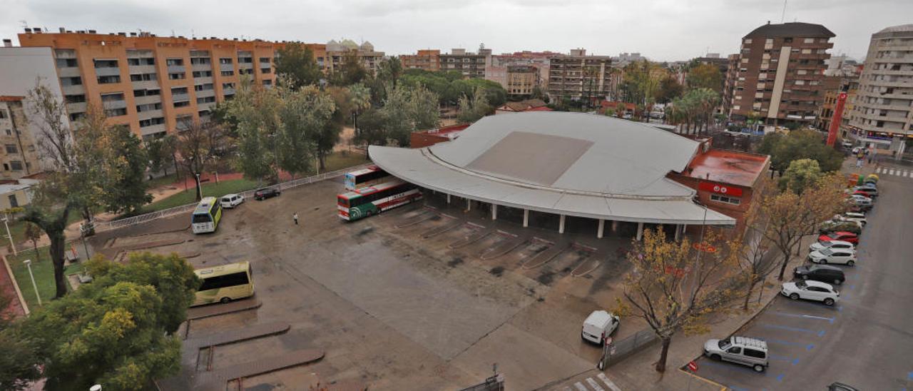
[[[859,77],[848,135],[897,156],[913,139],[913,25],[872,35]]]

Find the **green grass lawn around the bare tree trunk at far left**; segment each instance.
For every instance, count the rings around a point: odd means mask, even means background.
[[[70,243],[67,244],[67,248],[69,248],[69,245]],[[54,265],[51,263],[51,256],[47,252],[48,248],[47,246],[38,248],[39,257],[35,256],[35,249],[33,248],[19,251],[17,257],[6,257],[6,262],[9,263],[10,269],[13,269],[16,283],[19,284],[19,290],[22,291],[22,296],[26,299],[28,308],[31,311],[35,311],[38,308],[38,300],[35,297],[35,288],[32,287],[32,280],[28,276],[28,268],[22,261],[32,259],[32,273],[35,275],[35,283],[38,286],[38,292],[41,294],[41,301],[50,301],[54,297],[57,288],[54,285]],[[82,271],[82,264],[76,263],[68,265],[66,268],[64,269],[64,274],[66,275],[79,273]],[[71,289],[69,282],[67,282],[67,287]]]

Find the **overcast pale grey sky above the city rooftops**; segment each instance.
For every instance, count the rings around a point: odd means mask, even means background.
[[[913,23],[913,0],[788,0],[786,21],[830,28],[832,54],[865,56],[872,33]],[[368,40],[388,54],[478,48],[660,60],[735,52],[751,29],[781,20],[782,0],[0,0],[0,37],[28,26],[159,36]]]

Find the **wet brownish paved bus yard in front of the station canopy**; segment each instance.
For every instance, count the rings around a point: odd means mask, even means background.
[[[214,234],[194,236],[189,217],[100,234],[110,258],[177,252],[194,267],[250,260],[262,306],[190,322],[186,338],[288,322],[287,332],[217,346],[184,375],[301,349],[314,364],[244,380],[300,389],[360,381],[371,389],[455,389],[505,375],[531,389],[593,368],[600,349],[583,343],[582,320],[611,308],[626,271],[617,249],[630,237],[559,235],[491,221],[464,206],[415,203],[346,223],[336,217],[341,180],[247,200],[225,210]],[[298,213],[295,226],[292,214]],[[626,233],[625,233],[626,234]],[[643,327],[623,322],[616,337]],[[200,357],[208,361],[200,366]],[[211,357],[211,358],[210,358]]]

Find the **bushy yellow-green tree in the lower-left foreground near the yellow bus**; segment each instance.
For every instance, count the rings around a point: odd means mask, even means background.
[[[94,280],[50,301],[22,323],[37,344],[46,389],[143,389],[180,369],[181,340],[173,333],[199,285],[176,254],[144,253],[126,265],[92,259]]]

